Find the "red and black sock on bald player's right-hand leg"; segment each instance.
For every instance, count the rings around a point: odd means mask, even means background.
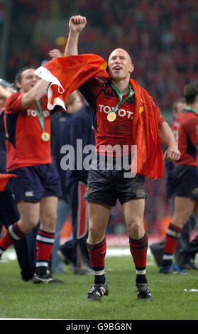
[[[132,239],[129,237],[129,245],[133,262],[136,266],[136,283],[147,283],[145,277],[146,257],[148,249],[148,236],[145,235],[141,239]]]

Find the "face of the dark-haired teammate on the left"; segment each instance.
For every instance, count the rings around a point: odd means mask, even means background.
[[[21,82],[17,82],[17,87],[20,92],[28,92],[40,80],[40,78],[34,74],[34,71],[34,68],[28,68],[22,72]]]

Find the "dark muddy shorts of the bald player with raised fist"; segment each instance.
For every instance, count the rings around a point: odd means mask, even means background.
[[[131,167],[127,170],[123,166],[118,170],[114,160],[111,169],[106,161],[101,169],[97,161],[89,171],[84,199],[92,203],[115,206],[117,200],[123,205],[128,200],[146,198],[145,176],[126,177],[130,171]]]

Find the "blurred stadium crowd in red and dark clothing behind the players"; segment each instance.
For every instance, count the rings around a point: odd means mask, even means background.
[[[171,122],[172,102],[182,95],[185,84],[198,82],[198,1],[1,0],[0,44],[1,54],[6,55],[2,78],[13,82],[18,69],[30,64],[39,67],[43,60],[50,60],[48,52],[53,48],[63,51],[68,19],[75,14],[88,21],[79,53],[96,53],[107,60],[115,47],[126,48],[135,64],[133,78]],[[147,191],[148,233],[165,231],[162,222],[170,216],[165,178],[148,180]],[[124,233],[119,205],[112,218],[110,231]]]

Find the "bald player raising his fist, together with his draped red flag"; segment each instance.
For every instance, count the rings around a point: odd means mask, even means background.
[[[177,161],[180,151],[152,97],[131,78],[134,65],[126,50],[116,48],[109,56],[108,68],[98,55],[77,55],[79,33],[86,23],[85,17],[72,16],[65,48],[67,57],[51,60],[36,73],[53,82],[48,90],[52,106],[62,105],[67,95],[79,88],[92,114],[97,155],[89,171],[84,198],[88,202],[87,247],[94,284],[87,301],[100,301],[109,292],[104,271],[105,234],[117,200],[123,209],[136,266],[137,298],[151,300],[145,273],[145,176],[163,177],[163,159]],[[164,154],[161,143],[167,146]]]

